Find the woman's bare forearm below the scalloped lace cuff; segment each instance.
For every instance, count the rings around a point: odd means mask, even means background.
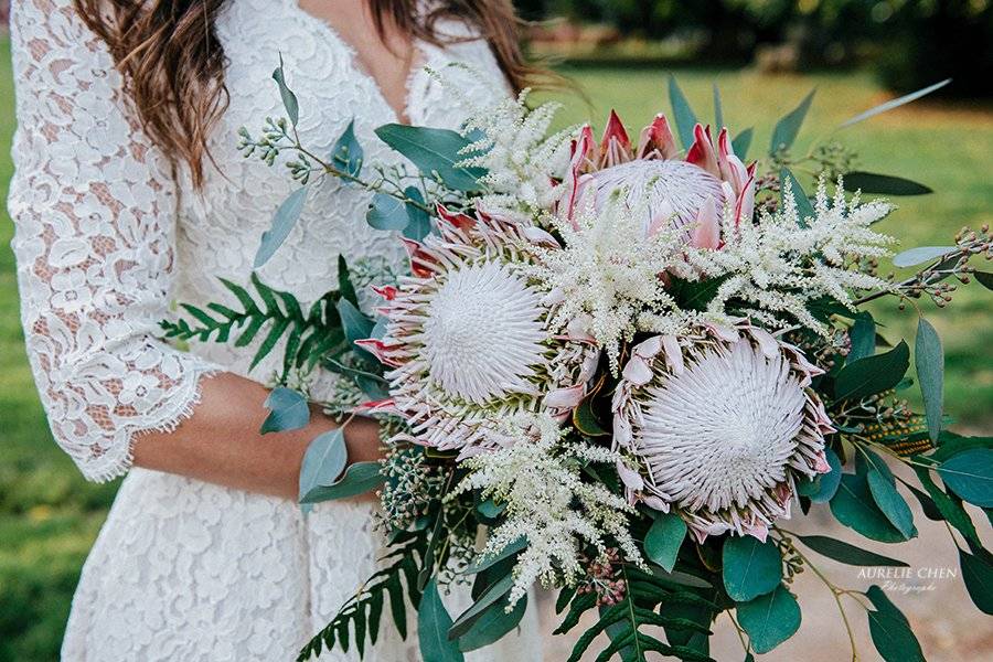
[[[175,430],[140,435],[135,465],[206,482],[297,499],[300,463],[311,439],[338,426],[314,412],[310,425],[286,433],[259,434],[269,392],[232,373],[207,377],[202,398]],[[345,427],[349,462],[380,457],[378,426],[355,417]]]

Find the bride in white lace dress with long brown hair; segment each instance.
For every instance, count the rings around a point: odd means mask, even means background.
[[[418,4],[14,0],[10,210],[28,351],[52,433],[82,472],[127,473],[63,659],[290,660],[373,569],[369,502],[308,515],[295,503],[305,448],[334,421],[316,410],[306,429],[260,436],[276,365],[249,375],[253,346],[183,352],[157,331],[173,299],[223,300],[218,277],[246,280],[291,191],[236,149],[238,127],[282,114],[269,79],[280,54],[303,142],[330,152],[354,119],[366,161],[382,164],[399,157],[375,127],[457,128],[460,99],[522,85],[510,0]],[[424,70],[450,62],[471,65],[450,67],[457,93]],[[367,201],[323,182],[261,279],[312,301],[335,287],[339,254],[367,280],[402,269],[399,242],[366,226]],[[311,391],[330,397],[332,376]],[[345,439],[350,461],[380,453],[372,420]],[[416,651],[416,637],[393,634],[366,660]],[[479,659],[540,656],[528,618]]]

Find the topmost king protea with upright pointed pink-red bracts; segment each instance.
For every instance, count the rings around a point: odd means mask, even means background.
[[[711,128],[700,124],[685,158],[679,158],[679,152],[664,115],[655,116],[642,130],[636,147],[611,111],[599,145],[589,126],[583,127],[573,142],[559,213],[572,218],[587,196],[599,207],[611,193],[623,189],[632,205],[648,202],[647,235],[663,227],[685,227],[693,246],[719,248],[726,209],[735,227],[751,220],[755,163],[746,168],[735,156],[726,128],[720,129],[715,145]]]

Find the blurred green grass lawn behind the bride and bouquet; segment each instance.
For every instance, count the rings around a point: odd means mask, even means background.
[[[13,102],[8,42],[0,38],[0,196],[11,172],[8,146]],[[752,153],[768,145],[776,119],[813,85],[818,97],[801,134],[801,149],[847,117],[886,98],[868,75],[761,77],[749,72],[680,71],[679,79],[701,116],[711,116],[711,83],[724,96],[733,128],[756,127]],[[574,72],[590,106],[574,99],[563,122],[594,117],[597,126],[616,107],[637,130],[665,109],[662,71],[584,68]],[[937,193],[899,201],[885,228],[907,246],[947,244],[962,225],[993,222],[993,113],[919,104],[840,134],[861,153],[864,170],[904,175]],[[51,440],[22,346],[18,321],[12,225],[0,213],[0,661],[53,660],[79,566],[105,516],[116,485],[93,485]],[[941,317],[929,314],[948,354],[948,412],[963,429],[993,430],[993,295],[978,286],[961,293]],[[931,312],[923,306],[926,313]],[[912,339],[916,316],[885,302],[877,318],[890,338]]]

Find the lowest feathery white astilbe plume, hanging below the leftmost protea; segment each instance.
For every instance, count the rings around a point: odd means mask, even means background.
[[[619,456],[567,441],[564,434],[547,414],[508,418],[499,430],[502,447],[463,460],[470,473],[448,496],[480,490],[483,499],[506,504],[505,520],[490,532],[483,557],[499,554],[522,536],[527,540],[513,570],[510,607],[536,580],[575,583],[584,573],[583,548],[592,545],[606,553],[608,537],[628,560],[641,563],[628,532],[628,515],[634,509],[602,484],[581,479],[584,462],[612,463]]]

